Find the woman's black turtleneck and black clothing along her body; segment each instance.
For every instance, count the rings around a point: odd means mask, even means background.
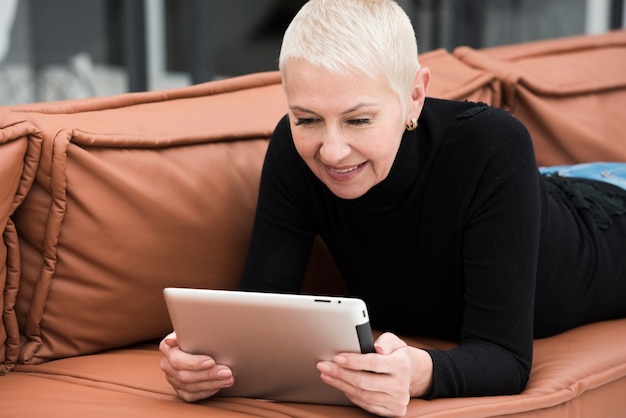
[[[587,186],[590,199],[572,199]],[[285,117],[241,287],[298,292],[319,234],[374,328],[459,342],[429,350],[432,397],[519,393],[534,337],[626,316],[625,208],[614,186],[544,179],[506,112],[436,99],[388,177],[341,199],[300,158]]]

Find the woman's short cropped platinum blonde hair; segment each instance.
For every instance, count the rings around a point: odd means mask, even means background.
[[[331,72],[385,78],[406,104],[420,65],[405,11],[392,0],[310,0],[283,37],[278,59],[283,81],[290,60]]]

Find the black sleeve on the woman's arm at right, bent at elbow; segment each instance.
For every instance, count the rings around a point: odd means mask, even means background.
[[[532,363],[541,230],[532,142],[503,111],[489,108],[471,119],[459,134],[469,145],[456,141],[449,150],[473,183],[463,230],[463,324],[457,348],[428,351],[434,398],[520,393]]]

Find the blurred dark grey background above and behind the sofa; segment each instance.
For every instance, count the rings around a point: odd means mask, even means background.
[[[277,69],[304,0],[0,0],[0,105]],[[623,28],[626,0],[398,0],[420,52]]]

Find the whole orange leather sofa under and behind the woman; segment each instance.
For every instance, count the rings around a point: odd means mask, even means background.
[[[525,122],[542,165],[626,161],[624,31],[421,61],[431,96]],[[276,72],[0,108],[1,416],[369,416],[241,398],[187,404],[159,369],[171,328],[162,289],[237,285],[285,111]],[[321,241],[303,290],[345,291]],[[536,340],[519,395],[413,399],[407,416],[624,417],[624,394],[626,319]]]

